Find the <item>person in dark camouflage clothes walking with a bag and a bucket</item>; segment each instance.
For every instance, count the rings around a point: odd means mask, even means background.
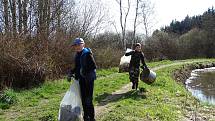
[[[135,44],[135,50],[125,53],[125,56],[131,55],[131,60],[129,64],[129,79],[132,82],[132,89],[138,88],[139,74],[140,74],[140,61],[142,62],[142,68],[147,68],[144,61],[144,54],[141,51],[141,44]]]

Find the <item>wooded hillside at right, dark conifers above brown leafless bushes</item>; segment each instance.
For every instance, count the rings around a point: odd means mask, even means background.
[[[145,49],[150,60],[215,57],[214,8],[203,15],[172,21],[169,26],[154,31]]]

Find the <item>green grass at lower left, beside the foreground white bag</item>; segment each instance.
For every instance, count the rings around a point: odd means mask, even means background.
[[[59,103],[68,87],[68,82],[59,80],[31,90],[14,91],[18,101],[8,110],[2,110],[0,120],[39,120],[48,116],[56,119]]]

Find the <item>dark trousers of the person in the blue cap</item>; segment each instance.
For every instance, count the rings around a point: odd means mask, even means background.
[[[84,121],[95,121],[95,111],[93,106],[94,79],[81,79],[79,80],[79,84],[84,110]]]

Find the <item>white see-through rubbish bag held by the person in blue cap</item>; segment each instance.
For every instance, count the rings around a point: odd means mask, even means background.
[[[81,112],[80,87],[78,81],[74,80],[60,103],[58,120],[81,121]]]

